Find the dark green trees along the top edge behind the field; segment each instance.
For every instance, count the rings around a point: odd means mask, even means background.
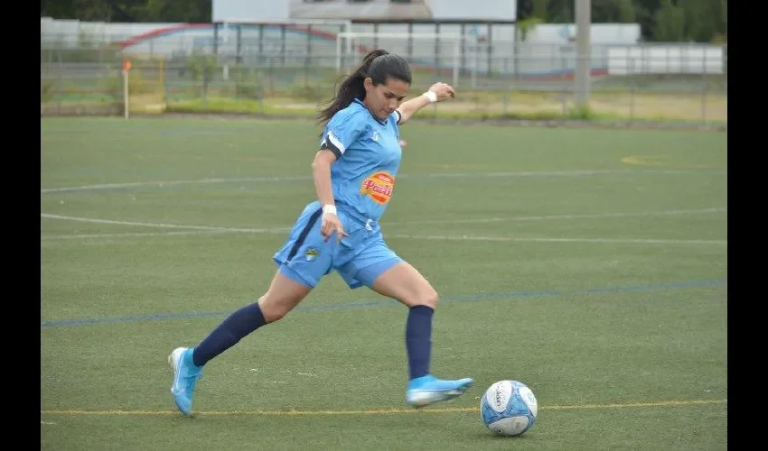
[[[593,23],[640,23],[644,41],[725,42],[727,0],[591,0]],[[41,0],[40,15],[97,22],[210,23],[212,0]],[[518,0],[518,19],[574,23],[576,0]]]

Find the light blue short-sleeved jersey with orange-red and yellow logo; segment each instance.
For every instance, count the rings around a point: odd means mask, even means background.
[[[331,167],[333,198],[361,218],[378,220],[387,209],[402,157],[399,113],[379,121],[358,99],[333,115],[321,148],[336,154]]]

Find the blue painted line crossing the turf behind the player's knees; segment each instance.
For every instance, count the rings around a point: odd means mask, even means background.
[[[683,288],[701,288],[701,287],[716,287],[726,285],[727,279],[705,279],[700,281],[679,281],[660,283],[654,285],[626,285],[616,287],[605,287],[599,289],[589,290],[547,290],[547,291],[506,291],[499,293],[476,293],[476,294],[459,294],[453,296],[445,296],[440,299],[441,303],[445,302],[468,302],[474,300],[506,300],[506,299],[529,299],[529,298],[561,298],[565,296],[579,296],[585,294],[600,294],[600,293],[625,293],[625,292],[647,292],[653,290],[673,290]],[[299,306],[295,311],[328,311],[328,310],[343,310],[347,308],[377,308],[377,307],[394,307],[400,304],[391,299],[380,300],[359,300],[354,302],[346,302],[342,304],[325,304],[315,306]],[[127,317],[116,318],[85,318],[85,319],[59,319],[52,321],[42,321],[41,327],[76,327],[76,326],[89,326],[95,324],[109,324],[109,323],[131,323],[142,321],[155,321],[162,319],[185,319],[185,318],[215,318],[224,317],[232,313],[231,311],[209,311],[209,312],[183,312],[183,313],[155,313],[145,315],[131,315]]]

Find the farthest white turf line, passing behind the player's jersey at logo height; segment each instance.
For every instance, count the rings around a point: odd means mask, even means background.
[[[709,170],[712,171],[712,170]],[[716,170],[726,173],[726,170]],[[438,179],[438,178],[462,178],[462,177],[572,177],[572,176],[591,176],[591,175],[642,175],[642,174],[691,174],[701,173],[702,170],[542,170],[542,171],[511,171],[511,172],[445,172],[428,174],[400,174],[399,179]],[[97,189],[118,189],[134,188],[145,186],[172,186],[172,185],[205,185],[211,183],[237,183],[237,182],[269,182],[269,181],[296,181],[310,180],[310,176],[276,176],[276,177],[243,177],[235,179],[212,178],[212,179],[193,179],[193,180],[156,180],[156,181],[135,181],[126,183],[103,183],[96,185],[81,185],[79,187],[62,188],[42,188],[41,194],[61,193],[67,191],[87,191]]]

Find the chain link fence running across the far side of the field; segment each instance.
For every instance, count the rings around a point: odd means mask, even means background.
[[[518,45],[512,57],[492,57],[507,49],[489,46],[510,45]],[[132,62],[128,93],[133,113],[314,115],[344,72],[372,46],[345,45],[342,55],[333,46],[315,45],[310,51],[278,47],[246,42],[237,54],[228,54],[203,45],[169,55],[128,53],[114,44],[71,48],[48,41],[41,46],[41,114],[121,114],[127,59]],[[727,124],[727,47],[707,54],[712,49],[718,47],[593,46],[588,111],[574,106],[577,56],[572,46],[463,44],[460,59],[429,51],[412,52],[407,59],[414,71],[413,92],[436,81],[457,88],[456,101],[441,104],[431,113],[435,116]]]

